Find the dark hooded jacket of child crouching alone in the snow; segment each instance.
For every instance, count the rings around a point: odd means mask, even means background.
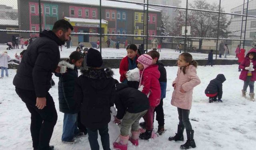
[[[205,94],[215,94],[218,93],[218,99],[222,98],[222,83],[226,81],[224,74],[218,74],[217,77],[210,81],[207,88],[205,89]]]

